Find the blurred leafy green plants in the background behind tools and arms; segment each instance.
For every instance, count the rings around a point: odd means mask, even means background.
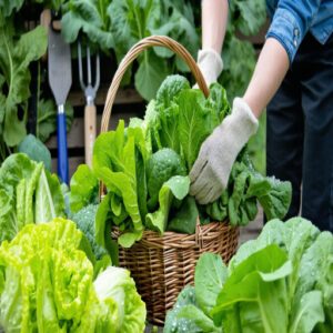
[[[150,34],[167,34],[182,43],[195,58],[200,48],[200,1],[191,0],[3,0],[0,2],[0,157],[16,150],[27,134],[28,100],[31,94],[30,62],[46,52],[47,33],[34,29],[27,36],[27,11],[43,8],[62,13],[62,34],[74,43],[100,51],[119,64],[129,48]],[[230,1],[229,24],[222,51],[224,69],[220,83],[229,100],[242,95],[250,81],[258,50],[245,40],[259,33],[266,21],[264,0]],[[28,38],[33,40],[29,43]],[[26,49],[24,49],[26,47]],[[73,52],[75,57],[75,46]],[[13,70],[8,71],[12,61]],[[56,130],[56,107],[48,93],[43,68],[39,65],[37,137],[46,141]],[[150,100],[168,74],[181,73],[191,79],[188,68],[172,52],[162,48],[145,51],[127,73],[123,85],[134,85]],[[112,73],[111,73],[112,74]],[[111,79],[111,78],[110,78]],[[16,82],[16,83],[14,83]],[[14,83],[14,84],[12,84]],[[73,115],[69,109],[69,128]],[[10,125],[9,125],[10,124]],[[255,168],[265,170],[265,117],[260,120],[258,134],[251,139],[249,151]]]

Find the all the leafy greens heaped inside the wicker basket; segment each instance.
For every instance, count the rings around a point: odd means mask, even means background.
[[[202,224],[229,220],[245,225],[254,220],[260,202],[269,219],[283,218],[291,184],[254,171],[246,150],[233,165],[228,189],[215,202],[200,206],[189,196],[189,172],[200,147],[230,113],[225,90],[211,85],[209,98],[191,89],[180,75],[168,77],[144,119],[120,121],[115,131],[102,133],[93,149],[93,168],[82,165],[71,181],[74,211],[93,203],[102,181],[107,194],[95,215],[95,239],[105,246],[109,225],[121,231],[119,243],[131,246],[143,230],[194,233]],[[82,184],[88,184],[82,186]]]

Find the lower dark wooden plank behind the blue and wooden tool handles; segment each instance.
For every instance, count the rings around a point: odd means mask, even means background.
[[[115,129],[120,119],[123,119],[125,123],[129,122],[130,118],[138,117],[135,112],[125,112],[125,113],[114,113],[112,114],[110,122],[110,130]],[[102,115],[98,114],[97,117],[97,131],[99,133],[101,128]],[[84,147],[84,120],[83,118],[74,118],[71,131],[67,135],[67,145],[71,148],[83,148]],[[49,149],[57,149],[57,135],[52,135],[48,142],[47,147]]]

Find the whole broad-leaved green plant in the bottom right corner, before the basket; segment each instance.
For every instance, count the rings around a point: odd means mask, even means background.
[[[332,233],[272,220],[228,268],[216,254],[200,258],[164,332],[331,332],[332,282]]]

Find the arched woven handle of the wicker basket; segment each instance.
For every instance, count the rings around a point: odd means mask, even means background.
[[[167,37],[167,36],[151,36],[142,39],[137,44],[134,44],[129,52],[125,54],[125,57],[122,59],[122,61],[119,64],[119,68],[117,72],[114,73],[114,77],[112,79],[111,85],[109,88],[105,105],[102,114],[102,121],[101,121],[101,133],[107,132],[109,128],[109,121],[111,117],[111,109],[115,99],[117,91],[119,89],[120,82],[122,80],[123,74],[125,73],[129,65],[133,62],[133,60],[145,49],[150,47],[164,47],[173,51],[175,54],[181,57],[185,63],[189,65],[193,77],[195,78],[195,81],[198,82],[199,88],[202,90],[203,94],[205,97],[209,95],[209,89],[206,87],[206,83],[203,79],[203,75],[193,59],[193,57],[190,54],[190,52],[181,46],[179,42],[174,41],[173,39]]]

